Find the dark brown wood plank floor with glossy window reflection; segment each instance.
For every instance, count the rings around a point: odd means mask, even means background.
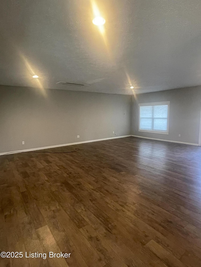
[[[201,148],[126,137],[0,157],[0,266],[201,266]],[[25,258],[71,253],[69,258]]]

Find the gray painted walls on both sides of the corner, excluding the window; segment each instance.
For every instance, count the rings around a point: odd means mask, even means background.
[[[197,144],[200,100],[201,86],[139,94],[131,105],[129,95],[0,85],[0,153],[114,137],[113,131]],[[170,101],[169,135],[139,132],[138,104],[160,101]]]

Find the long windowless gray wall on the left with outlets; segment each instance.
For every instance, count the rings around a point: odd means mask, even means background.
[[[129,95],[0,85],[0,153],[129,135],[130,122]]]

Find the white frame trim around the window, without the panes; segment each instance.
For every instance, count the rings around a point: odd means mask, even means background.
[[[159,105],[168,105],[167,111],[167,131],[159,131],[159,130],[144,130],[140,129],[140,107],[143,106],[159,106]],[[170,111],[170,101],[166,102],[153,102],[153,103],[141,103],[139,104],[139,123],[138,123],[138,131],[145,132],[145,133],[157,133],[157,134],[169,134],[169,111]]]

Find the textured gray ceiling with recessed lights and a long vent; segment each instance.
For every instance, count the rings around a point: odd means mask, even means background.
[[[0,84],[114,94],[200,85],[200,11],[200,0],[4,0]]]

